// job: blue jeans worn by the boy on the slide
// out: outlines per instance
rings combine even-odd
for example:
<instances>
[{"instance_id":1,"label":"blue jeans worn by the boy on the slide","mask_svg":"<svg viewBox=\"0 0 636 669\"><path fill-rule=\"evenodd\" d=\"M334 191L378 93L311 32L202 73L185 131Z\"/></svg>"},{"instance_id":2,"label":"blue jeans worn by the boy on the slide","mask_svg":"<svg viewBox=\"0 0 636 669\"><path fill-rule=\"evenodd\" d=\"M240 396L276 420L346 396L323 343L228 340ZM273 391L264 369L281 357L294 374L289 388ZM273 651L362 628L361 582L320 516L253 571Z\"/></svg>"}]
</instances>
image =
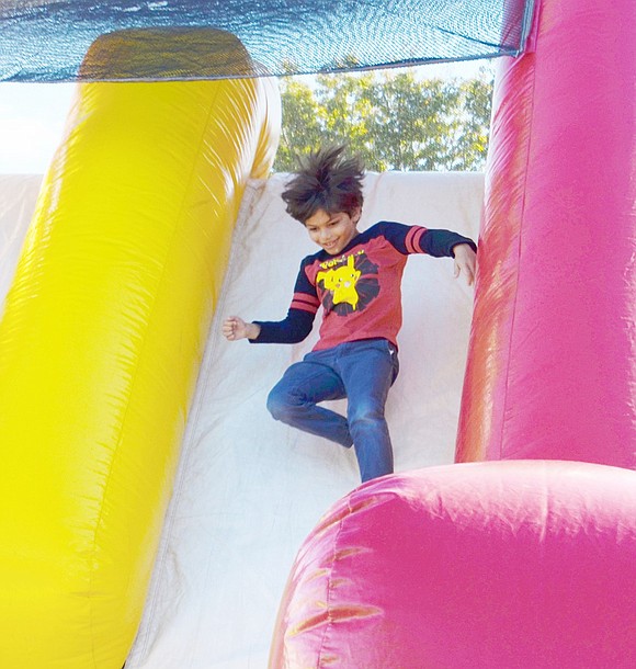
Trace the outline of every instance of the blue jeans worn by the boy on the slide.
<instances>
[{"instance_id":1,"label":"blue jeans worn by the boy on the slide","mask_svg":"<svg viewBox=\"0 0 636 669\"><path fill-rule=\"evenodd\" d=\"M288 426L355 447L363 481L393 472L393 447L384 418L388 390L399 371L386 339L341 343L311 351L291 365L268 397L268 409ZM348 398L347 418L317 406Z\"/></svg>"}]
</instances>

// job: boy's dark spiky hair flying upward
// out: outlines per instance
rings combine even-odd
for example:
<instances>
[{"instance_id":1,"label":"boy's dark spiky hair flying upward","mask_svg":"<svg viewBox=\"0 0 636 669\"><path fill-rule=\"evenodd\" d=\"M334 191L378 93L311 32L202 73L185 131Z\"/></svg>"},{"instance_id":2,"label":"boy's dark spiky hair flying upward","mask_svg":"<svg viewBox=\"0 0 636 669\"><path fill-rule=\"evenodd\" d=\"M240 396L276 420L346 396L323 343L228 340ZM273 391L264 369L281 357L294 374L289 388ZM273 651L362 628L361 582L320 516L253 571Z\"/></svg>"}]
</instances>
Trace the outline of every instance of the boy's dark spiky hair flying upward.
<instances>
[{"instance_id":1,"label":"boy's dark spiky hair flying upward","mask_svg":"<svg viewBox=\"0 0 636 669\"><path fill-rule=\"evenodd\" d=\"M345 156L347 146L328 146L297 157L299 167L282 193L287 214L305 224L318 209L352 214L362 207L364 166Z\"/></svg>"}]
</instances>

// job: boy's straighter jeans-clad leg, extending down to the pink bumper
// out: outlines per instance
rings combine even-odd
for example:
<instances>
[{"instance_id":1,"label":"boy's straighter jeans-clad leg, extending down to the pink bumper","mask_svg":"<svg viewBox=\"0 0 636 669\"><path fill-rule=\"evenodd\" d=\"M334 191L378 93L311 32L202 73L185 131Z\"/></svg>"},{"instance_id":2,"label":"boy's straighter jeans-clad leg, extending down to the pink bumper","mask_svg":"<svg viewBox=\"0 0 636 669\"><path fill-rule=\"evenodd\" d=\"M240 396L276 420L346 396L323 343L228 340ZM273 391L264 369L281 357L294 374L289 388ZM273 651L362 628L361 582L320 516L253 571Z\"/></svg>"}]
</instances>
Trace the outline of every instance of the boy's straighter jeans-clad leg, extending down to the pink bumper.
<instances>
[{"instance_id":1,"label":"boy's straighter jeans-clad leg, extending down to the pink bumper","mask_svg":"<svg viewBox=\"0 0 636 669\"><path fill-rule=\"evenodd\" d=\"M349 398L349 431L362 481L393 473L393 447L384 407L399 371L396 348L386 340L338 347L336 367Z\"/></svg>"}]
</instances>

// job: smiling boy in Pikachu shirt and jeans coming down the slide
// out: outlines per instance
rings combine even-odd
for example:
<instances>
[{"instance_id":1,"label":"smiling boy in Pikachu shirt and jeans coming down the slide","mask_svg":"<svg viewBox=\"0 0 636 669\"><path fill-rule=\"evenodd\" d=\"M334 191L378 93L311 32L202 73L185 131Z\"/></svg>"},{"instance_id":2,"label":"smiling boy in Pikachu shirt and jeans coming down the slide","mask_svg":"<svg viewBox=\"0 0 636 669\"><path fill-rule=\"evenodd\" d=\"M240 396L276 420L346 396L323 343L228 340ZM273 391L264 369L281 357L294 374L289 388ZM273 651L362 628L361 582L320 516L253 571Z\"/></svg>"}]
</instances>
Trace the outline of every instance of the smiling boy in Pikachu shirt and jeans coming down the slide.
<instances>
[{"instance_id":1,"label":"smiling boy in Pikachu shirt and jeans coming down the slide","mask_svg":"<svg viewBox=\"0 0 636 669\"><path fill-rule=\"evenodd\" d=\"M320 149L300 161L282 194L287 213L303 223L320 251L300 263L284 320L227 318L229 341L296 343L323 308L320 339L291 365L268 397L276 420L355 449L362 481L393 473L393 449L384 407L398 374L400 283L411 253L450 256L455 276L473 284L475 242L450 230L381 222L357 231L364 170L344 147ZM347 418L318 406L347 397Z\"/></svg>"}]
</instances>

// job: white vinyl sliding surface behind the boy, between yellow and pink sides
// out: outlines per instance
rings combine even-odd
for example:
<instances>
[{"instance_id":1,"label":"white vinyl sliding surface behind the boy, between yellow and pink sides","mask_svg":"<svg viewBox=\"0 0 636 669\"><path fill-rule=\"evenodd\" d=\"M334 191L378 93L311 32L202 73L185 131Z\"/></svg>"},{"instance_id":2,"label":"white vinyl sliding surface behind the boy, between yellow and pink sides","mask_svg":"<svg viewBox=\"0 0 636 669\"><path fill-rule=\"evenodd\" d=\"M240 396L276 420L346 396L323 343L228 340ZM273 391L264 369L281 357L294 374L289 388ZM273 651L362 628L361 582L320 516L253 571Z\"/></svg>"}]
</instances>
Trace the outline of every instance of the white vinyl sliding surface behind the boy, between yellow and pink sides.
<instances>
[{"instance_id":1,"label":"white vinyl sliding surface behind the boy, between yellow and pink sides","mask_svg":"<svg viewBox=\"0 0 636 669\"><path fill-rule=\"evenodd\" d=\"M29 193L20 193L20 181L31 185ZM13 226L22 220L25 228L29 203L35 203L38 179L20 181L0 180L7 228L10 215ZM277 317L287 308L311 242L284 212L284 181L285 174L274 174L246 186L126 669L266 667L298 546L360 481L351 452L289 430L266 412L270 387L313 341L229 344L218 331L228 313ZM362 226L391 216L475 236L482 194L481 174L372 173ZM11 259L9 247L3 258ZM447 259L411 259L404 294L404 362L387 407L398 470L453 462L473 304L472 288L454 280ZM154 449L146 457L146 467L155 464Z\"/></svg>"}]
</instances>

